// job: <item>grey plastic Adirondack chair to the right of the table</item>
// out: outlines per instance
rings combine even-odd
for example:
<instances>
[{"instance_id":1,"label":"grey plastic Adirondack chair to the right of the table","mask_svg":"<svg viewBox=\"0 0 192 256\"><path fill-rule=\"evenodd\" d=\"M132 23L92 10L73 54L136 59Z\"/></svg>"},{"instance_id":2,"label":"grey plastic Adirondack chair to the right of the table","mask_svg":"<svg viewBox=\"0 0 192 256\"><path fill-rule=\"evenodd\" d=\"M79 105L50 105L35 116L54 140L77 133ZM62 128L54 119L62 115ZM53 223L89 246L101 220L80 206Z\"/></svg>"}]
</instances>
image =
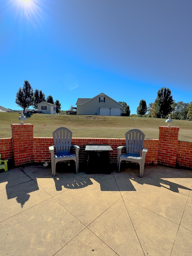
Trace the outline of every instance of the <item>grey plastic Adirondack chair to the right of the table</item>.
<instances>
[{"instance_id":1,"label":"grey plastic Adirondack chair to the right of the table","mask_svg":"<svg viewBox=\"0 0 192 256\"><path fill-rule=\"evenodd\" d=\"M121 161L137 162L140 165L140 177L143 178L145 156L148 151L148 149L143 148L144 139L145 139L145 134L138 129L132 129L126 132L125 134L126 145L119 146L117 148L118 173L120 171ZM125 147L126 147L126 154L121 155L121 150ZM142 152L142 155L141 155L141 152Z\"/></svg>"}]
</instances>

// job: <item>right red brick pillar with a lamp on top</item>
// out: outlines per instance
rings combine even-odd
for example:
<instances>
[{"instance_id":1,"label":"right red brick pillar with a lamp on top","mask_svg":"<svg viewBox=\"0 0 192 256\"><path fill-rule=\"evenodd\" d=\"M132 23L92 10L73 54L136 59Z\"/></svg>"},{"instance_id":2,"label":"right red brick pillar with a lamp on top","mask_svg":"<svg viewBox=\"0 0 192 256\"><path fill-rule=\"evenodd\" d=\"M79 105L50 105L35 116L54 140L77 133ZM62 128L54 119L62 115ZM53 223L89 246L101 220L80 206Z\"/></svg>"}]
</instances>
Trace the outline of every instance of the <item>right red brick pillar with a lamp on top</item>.
<instances>
[{"instance_id":1,"label":"right red brick pillar with a lamp on top","mask_svg":"<svg viewBox=\"0 0 192 256\"><path fill-rule=\"evenodd\" d=\"M179 127L159 127L158 164L176 167Z\"/></svg>"}]
</instances>

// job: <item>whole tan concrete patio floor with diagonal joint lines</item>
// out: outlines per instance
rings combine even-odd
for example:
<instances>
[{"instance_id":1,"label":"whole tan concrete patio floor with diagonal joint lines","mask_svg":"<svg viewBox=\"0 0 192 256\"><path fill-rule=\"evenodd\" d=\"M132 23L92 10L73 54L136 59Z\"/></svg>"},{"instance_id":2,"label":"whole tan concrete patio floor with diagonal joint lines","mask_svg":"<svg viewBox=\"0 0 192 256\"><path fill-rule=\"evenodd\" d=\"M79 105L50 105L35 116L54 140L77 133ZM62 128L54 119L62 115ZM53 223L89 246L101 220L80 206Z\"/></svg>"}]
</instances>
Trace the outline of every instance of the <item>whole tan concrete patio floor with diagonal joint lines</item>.
<instances>
[{"instance_id":1,"label":"whole tan concrete patio floor with diagonal joint lines","mask_svg":"<svg viewBox=\"0 0 192 256\"><path fill-rule=\"evenodd\" d=\"M0 255L192 255L192 171L0 173Z\"/></svg>"}]
</instances>

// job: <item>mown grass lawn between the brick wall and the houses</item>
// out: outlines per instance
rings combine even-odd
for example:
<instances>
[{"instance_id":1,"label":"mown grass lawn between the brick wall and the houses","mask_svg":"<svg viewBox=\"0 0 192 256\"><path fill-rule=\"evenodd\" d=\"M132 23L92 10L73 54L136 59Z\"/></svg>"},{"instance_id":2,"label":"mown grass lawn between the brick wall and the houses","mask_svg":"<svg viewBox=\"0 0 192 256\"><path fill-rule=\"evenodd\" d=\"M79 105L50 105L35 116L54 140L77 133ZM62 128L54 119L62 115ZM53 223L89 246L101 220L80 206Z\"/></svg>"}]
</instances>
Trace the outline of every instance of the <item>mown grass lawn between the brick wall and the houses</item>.
<instances>
[{"instance_id":1,"label":"mown grass lawn between the brick wall and the houses","mask_svg":"<svg viewBox=\"0 0 192 256\"><path fill-rule=\"evenodd\" d=\"M20 123L19 113L0 112L0 138L11 137L11 123ZM67 127L73 137L125 138L133 128L140 129L146 138L158 139L159 126L166 125L166 119L127 116L72 116L31 114L24 123L34 125L34 137L52 137L58 127ZM172 126L179 126L179 140L192 141L192 121L173 120Z\"/></svg>"}]
</instances>

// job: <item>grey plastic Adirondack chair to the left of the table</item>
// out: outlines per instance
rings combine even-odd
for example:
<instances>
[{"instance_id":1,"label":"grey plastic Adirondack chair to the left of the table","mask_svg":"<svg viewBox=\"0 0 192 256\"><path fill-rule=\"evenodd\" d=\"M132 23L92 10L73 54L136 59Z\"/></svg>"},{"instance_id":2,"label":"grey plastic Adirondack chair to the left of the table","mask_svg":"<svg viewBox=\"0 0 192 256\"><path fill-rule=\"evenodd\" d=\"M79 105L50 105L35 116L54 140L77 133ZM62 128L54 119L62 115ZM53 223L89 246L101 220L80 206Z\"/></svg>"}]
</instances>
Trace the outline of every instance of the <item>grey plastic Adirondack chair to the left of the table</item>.
<instances>
[{"instance_id":1,"label":"grey plastic Adirondack chair to the left of the table","mask_svg":"<svg viewBox=\"0 0 192 256\"><path fill-rule=\"evenodd\" d=\"M71 145L72 131L65 127L60 127L53 132L54 146L49 147L51 153L52 176L55 176L56 163L59 161L74 160L76 173L79 167L79 146ZM75 148L75 155L70 153L70 148ZM54 149L56 155L54 155Z\"/></svg>"}]
</instances>

